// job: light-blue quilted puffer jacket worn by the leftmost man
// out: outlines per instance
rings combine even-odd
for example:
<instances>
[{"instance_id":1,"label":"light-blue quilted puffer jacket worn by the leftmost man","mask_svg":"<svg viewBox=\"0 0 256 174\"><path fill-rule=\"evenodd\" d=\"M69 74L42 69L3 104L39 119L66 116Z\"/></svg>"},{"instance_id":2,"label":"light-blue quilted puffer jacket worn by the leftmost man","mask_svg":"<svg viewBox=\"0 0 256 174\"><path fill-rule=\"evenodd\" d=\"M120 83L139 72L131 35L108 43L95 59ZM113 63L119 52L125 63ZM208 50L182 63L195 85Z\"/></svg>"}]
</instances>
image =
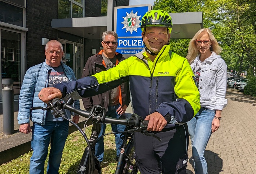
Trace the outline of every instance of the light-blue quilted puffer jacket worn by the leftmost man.
<instances>
[{"instance_id":1,"label":"light-blue quilted puffer jacket worn by the leftmost man","mask_svg":"<svg viewBox=\"0 0 256 174\"><path fill-rule=\"evenodd\" d=\"M61 62L63 70L67 78L72 81L76 80L73 70ZM21 86L21 94L19 95L19 112L18 112L18 123L29 123L36 122L39 124L45 124L46 110L32 110L32 107L46 107L46 104L42 102L37 96L41 89L48 86L48 71L52 69L46 62L30 67L25 76ZM80 108L79 100L75 101L75 107ZM70 111L65 110L66 115L70 119Z\"/></svg>"}]
</instances>

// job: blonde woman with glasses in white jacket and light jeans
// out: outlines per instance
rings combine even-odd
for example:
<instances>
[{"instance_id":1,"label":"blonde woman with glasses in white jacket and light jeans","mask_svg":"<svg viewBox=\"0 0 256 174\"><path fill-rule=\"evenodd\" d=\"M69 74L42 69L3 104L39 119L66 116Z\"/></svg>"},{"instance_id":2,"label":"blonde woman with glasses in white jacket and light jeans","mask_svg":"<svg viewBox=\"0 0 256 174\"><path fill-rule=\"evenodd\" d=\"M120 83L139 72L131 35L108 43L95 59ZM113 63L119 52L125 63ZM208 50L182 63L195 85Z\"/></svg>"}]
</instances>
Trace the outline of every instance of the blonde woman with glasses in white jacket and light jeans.
<instances>
[{"instance_id":1,"label":"blonde woman with glasses in white jacket and light jeans","mask_svg":"<svg viewBox=\"0 0 256 174\"><path fill-rule=\"evenodd\" d=\"M203 28L189 42L186 56L200 93L201 109L187 122L196 174L207 174L204 151L211 134L220 127L221 111L227 104L227 66L220 52L211 30Z\"/></svg>"}]
</instances>

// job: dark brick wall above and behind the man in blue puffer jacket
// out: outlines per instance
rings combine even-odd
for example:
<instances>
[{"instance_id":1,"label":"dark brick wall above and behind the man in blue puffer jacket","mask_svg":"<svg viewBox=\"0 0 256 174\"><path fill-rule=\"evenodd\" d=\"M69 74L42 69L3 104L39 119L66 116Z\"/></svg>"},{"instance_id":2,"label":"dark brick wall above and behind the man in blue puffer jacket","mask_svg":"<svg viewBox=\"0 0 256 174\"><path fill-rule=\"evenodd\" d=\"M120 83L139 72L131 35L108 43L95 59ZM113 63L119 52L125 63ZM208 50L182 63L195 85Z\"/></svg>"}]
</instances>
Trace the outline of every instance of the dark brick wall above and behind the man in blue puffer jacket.
<instances>
[{"instance_id":1,"label":"dark brick wall above and behind the man in blue puffer jacket","mask_svg":"<svg viewBox=\"0 0 256 174\"><path fill-rule=\"evenodd\" d=\"M27 69L45 60L42 38L58 38L57 30L51 27L51 19L58 18L58 0L27 0Z\"/></svg>"}]
</instances>

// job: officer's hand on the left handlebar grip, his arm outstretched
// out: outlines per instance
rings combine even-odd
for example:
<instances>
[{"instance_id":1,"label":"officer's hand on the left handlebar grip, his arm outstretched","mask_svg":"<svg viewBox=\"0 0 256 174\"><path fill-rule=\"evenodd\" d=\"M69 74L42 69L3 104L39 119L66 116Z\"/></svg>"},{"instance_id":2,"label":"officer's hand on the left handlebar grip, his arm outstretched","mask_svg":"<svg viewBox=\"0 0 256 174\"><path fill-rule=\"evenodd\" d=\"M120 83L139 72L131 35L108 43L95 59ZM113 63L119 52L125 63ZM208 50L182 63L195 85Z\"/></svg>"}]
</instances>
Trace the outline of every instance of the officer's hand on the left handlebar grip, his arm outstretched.
<instances>
[{"instance_id":1,"label":"officer's hand on the left handlebar grip, his arm outstretched","mask_svg":"<svg viewBox=\"0 0 256 174\"><path fill-rule=\"evenodd\" d=\"M43 88L39 92L38 97L44 103L48 103L50 100L52 100L54 98L61 98L62 97L62 93L57 88L49 87L49 88Z\"/></svg>"}]
</instances>

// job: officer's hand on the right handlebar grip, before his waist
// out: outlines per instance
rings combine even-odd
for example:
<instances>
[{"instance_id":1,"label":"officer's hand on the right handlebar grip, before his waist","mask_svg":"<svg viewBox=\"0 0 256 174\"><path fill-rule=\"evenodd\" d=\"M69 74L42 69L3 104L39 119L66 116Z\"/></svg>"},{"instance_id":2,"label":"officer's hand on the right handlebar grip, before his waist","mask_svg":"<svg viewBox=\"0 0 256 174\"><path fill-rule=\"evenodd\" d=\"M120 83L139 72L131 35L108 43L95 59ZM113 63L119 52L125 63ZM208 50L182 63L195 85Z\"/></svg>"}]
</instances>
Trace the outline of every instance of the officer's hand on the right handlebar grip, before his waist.
<instances>
[{"instance_id":1,"label":"officer's hand on the right handlebar grip, before his waist","mask_svg":"<svg viewBox=\"0 0 256 174\"><path fill-rule=\"evenodd\" d=\"M167 121L159 112L148 115L145 120L149 120L147 131L162 131Z\"/></svg>"}]
</instances>

